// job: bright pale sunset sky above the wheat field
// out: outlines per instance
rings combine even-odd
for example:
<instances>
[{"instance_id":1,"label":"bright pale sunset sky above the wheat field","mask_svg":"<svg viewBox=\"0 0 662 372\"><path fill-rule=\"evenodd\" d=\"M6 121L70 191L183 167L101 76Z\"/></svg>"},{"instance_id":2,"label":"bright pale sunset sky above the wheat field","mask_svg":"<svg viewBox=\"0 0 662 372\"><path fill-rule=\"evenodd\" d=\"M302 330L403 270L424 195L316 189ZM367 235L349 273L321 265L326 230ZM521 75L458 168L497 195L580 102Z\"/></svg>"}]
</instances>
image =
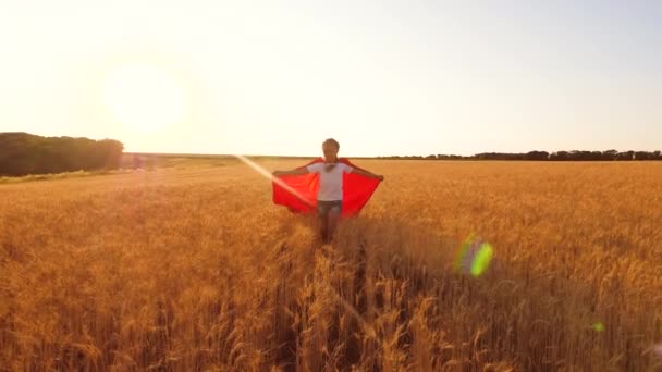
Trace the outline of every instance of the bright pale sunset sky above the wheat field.
<instances>
[{"instance_id":1,"label":"bright pale sunset sky above the wheat field","mask_svg":"<svg viewBox=\"0 0 662 372\"><path fill-rule=\"evenodd\" d=\"M126 151L662 149L660 1L0 0L0 132Z\"/></svg>"}]
</instances>

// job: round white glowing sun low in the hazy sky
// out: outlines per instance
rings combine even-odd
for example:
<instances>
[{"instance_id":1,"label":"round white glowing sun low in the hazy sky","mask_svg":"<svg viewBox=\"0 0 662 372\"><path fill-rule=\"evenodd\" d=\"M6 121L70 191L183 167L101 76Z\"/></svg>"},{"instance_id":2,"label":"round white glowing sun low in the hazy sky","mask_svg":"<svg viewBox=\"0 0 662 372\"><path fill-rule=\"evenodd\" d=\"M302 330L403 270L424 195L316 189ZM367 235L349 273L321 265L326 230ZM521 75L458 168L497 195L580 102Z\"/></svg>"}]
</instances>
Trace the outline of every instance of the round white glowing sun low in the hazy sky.
<instances>
[{"instance_id":1,"label":"round white glowing sun low in the hazy sky","mask_svg":"<svg viewBox=\"0 0 662 372\"><path fill-rule=\"evenodd\" d=\"M181 87L171 74L155 65L115 67L106 75L102 89L106 108L133 132L154 133L183 119Z\"/></svg>"}]
</instances>

